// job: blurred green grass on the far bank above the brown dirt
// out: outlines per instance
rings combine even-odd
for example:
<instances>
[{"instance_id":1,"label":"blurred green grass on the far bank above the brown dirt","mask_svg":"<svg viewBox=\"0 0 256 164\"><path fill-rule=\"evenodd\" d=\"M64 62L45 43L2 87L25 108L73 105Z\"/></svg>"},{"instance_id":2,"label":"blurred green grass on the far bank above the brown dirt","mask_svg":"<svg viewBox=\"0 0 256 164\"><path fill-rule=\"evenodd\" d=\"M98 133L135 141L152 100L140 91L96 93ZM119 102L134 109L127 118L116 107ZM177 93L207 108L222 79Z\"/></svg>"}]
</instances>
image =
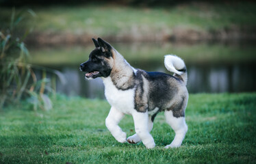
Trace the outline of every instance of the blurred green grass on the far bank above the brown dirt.
<instances>
[{"instance_id":1,"label":"blurred green grass on the far bank above the brown dirt","mask_svg":"<svg viewBox=\"0 0 256 164\"><path fill-rule=\"evenodd\" d=\"M120 5L32 7L37 14L35 31L92 36L172 33L173 28L209 31L256 26L256 3L186 3L173 7L131 8ZM16 9L21 10L20 8ZM0 8L2 25L10 8ZM33 21L27 20L23 25Z\"/></svg>"}]
</instances>

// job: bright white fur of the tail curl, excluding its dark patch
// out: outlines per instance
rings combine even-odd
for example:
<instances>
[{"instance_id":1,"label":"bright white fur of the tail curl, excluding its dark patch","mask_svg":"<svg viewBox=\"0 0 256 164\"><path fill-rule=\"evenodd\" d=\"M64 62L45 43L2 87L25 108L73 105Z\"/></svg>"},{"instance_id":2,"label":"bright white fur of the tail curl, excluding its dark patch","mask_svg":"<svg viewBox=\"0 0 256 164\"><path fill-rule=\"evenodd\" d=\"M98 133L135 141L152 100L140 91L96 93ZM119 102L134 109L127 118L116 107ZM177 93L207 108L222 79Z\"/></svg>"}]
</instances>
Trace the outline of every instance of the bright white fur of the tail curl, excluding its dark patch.
<instances>
[{"instance_id":1,"label":"bright white fur of the tail curl, excluding its dark patch","mask_svg":"<svg viewBox=\"0 0 256 164\"><path fill-rule=\"evenodd\" d=\"M185 67L184 61L177 57L176 55L165 55L164 56L164 66L170 72L181 75L183 72L178 71Z\"/></svg>"}]
</instances>

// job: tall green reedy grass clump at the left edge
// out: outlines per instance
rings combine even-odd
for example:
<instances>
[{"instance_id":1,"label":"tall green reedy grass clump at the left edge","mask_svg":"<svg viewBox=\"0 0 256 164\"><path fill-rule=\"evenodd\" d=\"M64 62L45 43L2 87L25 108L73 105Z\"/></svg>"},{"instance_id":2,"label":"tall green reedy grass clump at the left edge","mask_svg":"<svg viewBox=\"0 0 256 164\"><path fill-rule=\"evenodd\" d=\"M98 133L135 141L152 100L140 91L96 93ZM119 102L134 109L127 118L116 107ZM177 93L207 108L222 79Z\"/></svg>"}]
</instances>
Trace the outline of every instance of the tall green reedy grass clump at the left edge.
<instances>
[{"instance_id":1,"label":"tall green reedy grass clump at the left edge","mask_svg":"<svg viewBox=\"0 0 256 164\"><path fill-rule=\"evenodd\" d=\"M32 10L27 12L33 18L36 16ZM29 51L23 40L32 28L25 30L22 37L16 33L24 14L24 11L16 14L13 9L10 26L0 31L0 109L4 105L17 104L21 98L27 97L30 97L29 102L34 105L34 109L51 109L51 100L45 94L47 71L42 69L42 80L38 81L33 69L35 66L28 64Z\"/></svg>"}]
</instances>

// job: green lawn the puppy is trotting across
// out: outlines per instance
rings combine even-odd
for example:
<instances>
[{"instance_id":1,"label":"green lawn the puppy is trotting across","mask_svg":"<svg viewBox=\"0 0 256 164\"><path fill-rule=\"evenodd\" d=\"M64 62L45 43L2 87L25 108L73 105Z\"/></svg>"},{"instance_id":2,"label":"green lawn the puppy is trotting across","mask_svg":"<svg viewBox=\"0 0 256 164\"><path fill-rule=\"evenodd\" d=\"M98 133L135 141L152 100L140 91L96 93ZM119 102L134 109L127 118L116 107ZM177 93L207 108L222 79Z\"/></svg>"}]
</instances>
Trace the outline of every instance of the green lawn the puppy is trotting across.
<instances>
[{"instance_id":1,"label":"green lawn the puppy is trotting across","mask_svg":"<svg viewBox=\"0 0 256 164\"><path fill-rule=\"evenodd\" d=\"M105 100L58 95L51 111L26 102L0 111L0 163L256 163L256 94L191 94L181 148L163 113L155 119L156 147L118 143L105 127ZM133 135L133 120L120 126Z\"/></svg>"}]
</instances>

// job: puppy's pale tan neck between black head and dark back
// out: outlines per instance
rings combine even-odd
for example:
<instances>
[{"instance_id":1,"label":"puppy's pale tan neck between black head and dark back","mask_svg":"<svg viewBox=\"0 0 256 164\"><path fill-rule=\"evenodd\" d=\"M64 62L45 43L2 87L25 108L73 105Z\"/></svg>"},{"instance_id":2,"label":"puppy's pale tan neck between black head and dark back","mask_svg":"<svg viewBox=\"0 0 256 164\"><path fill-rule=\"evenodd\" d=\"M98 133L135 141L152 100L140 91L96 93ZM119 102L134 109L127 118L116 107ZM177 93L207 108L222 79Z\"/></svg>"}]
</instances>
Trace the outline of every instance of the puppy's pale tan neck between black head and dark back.
<instances>
[{"instance_id":1,"label":"puppy's pale tan neck between black head and dark back","mask_svg":"<svg viewBox=\"0 0 256 164\"><path fill-rule=\"evenodd\" d=\"M129 90L134 87L134 76L136 69L134 69L125 58L115 50L114 66L110 73L110 79L118 90Z\"/></svg>"}]
</instances>

